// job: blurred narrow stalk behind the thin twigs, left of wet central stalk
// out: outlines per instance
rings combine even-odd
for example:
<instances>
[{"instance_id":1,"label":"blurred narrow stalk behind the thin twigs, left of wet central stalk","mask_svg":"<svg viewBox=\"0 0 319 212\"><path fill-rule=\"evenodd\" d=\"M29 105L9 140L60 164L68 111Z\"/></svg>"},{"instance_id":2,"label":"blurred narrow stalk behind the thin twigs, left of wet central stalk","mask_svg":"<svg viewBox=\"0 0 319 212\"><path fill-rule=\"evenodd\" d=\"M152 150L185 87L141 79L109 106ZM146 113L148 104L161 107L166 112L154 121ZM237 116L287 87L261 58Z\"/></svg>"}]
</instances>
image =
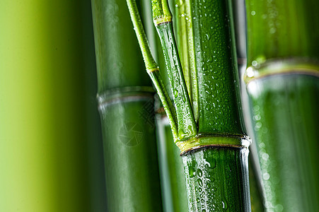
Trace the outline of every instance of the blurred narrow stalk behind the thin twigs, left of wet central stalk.
<instances>
[{"instance_id":1,"label":"blurred narrow stalk behind the thin twigs, left of wet central stalk","mask_svg":"<svg viewBox=\"0 0 319 212\"><path fill-rule=\"evenodd\" d=\"M161 50L161 42L156 36L151 14L151 1L144 1L144 18L146 35L149 38L151 50L161 66L161 76L170 93L170 82L166 71L165 59ZM173 99L173 97L172 97ZM161 172L161 187L163 211L187 211L187 192L185 187L184 166L180 158L180 150L174 143L168 117L163 110L161 100L156 98L156 132L158 143L158 159Z\"/></svg>"}]
</instances>

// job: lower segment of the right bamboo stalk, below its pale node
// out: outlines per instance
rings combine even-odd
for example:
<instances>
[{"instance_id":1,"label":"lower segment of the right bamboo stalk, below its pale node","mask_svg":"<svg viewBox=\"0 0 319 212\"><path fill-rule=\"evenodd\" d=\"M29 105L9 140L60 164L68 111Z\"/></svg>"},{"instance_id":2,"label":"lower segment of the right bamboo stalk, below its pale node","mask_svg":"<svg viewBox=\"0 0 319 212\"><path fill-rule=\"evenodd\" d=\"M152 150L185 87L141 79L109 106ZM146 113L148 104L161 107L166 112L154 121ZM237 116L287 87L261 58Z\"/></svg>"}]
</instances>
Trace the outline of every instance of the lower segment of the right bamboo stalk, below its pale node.
<instances>
[{"instance_id":1,"label":"lower segment of the right bamboo stalk, below its pale node","mask_svg":"<svg viewBox=\"0 0 319 212\"><path fill-rule=\"evenodd\" d=\"M319 78L248 84L267 211L318 211Z\"/></svg>"}]
</instances>

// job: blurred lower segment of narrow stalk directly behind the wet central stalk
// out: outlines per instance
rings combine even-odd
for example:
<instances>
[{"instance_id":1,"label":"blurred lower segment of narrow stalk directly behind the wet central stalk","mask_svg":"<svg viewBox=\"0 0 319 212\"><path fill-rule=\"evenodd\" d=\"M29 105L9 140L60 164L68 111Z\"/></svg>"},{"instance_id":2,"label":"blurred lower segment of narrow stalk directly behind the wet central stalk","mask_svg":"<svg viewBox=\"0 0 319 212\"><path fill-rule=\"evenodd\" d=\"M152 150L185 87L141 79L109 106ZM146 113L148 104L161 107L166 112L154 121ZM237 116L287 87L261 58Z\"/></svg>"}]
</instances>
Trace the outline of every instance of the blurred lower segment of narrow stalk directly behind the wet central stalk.
<instances>
[{"instance_id":1,"label":"blurred lower segment of narrow stalk directly behind the wet central stalk","mask_svg":"<svg viewBox=\"0 0 319 212\"><path fill-rule=\"evenodd\" d=\"M185 212L188 208L184 165L180 149L173 141L167 117L157 115L156 130L164 211Z\"/></svg>"}]
</instances>

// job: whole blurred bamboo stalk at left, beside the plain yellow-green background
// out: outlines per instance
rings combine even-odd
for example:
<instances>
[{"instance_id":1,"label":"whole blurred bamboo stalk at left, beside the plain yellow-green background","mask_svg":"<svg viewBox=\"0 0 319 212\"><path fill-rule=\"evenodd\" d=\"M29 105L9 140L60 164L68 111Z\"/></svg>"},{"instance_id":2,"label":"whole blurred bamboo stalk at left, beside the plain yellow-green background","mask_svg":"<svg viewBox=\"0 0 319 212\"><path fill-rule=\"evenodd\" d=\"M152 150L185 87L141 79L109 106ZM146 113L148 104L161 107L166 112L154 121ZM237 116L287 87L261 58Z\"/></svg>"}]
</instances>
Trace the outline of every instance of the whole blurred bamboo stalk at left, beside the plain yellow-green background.
<instances>
[{"instance_id":1,"label":"whole blurred bamboo stalk at left, beside the plain yellow-green background","mask_svg":"<svg viewBox=\"0 0 319 212\"><path fill-rule=\"evenodd\" d=\"M153 88L125 0L93 0L109 211L161 211Z\"/></svg>"}]
</instances>

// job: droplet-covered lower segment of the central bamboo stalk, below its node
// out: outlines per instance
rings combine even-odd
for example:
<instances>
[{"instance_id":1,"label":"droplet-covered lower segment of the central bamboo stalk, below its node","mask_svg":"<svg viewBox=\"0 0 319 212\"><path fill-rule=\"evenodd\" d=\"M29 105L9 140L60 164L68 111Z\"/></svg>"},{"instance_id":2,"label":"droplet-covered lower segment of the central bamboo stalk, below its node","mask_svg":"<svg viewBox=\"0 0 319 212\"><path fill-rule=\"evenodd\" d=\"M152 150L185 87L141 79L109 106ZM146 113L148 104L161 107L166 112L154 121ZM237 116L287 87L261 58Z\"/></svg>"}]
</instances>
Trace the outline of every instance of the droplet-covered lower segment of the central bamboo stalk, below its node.
<instances>
[{"instance_id":1,"label":"droplet-covered lower segment of the central bamboo stalk, below its node","mask_svg":"<svg viewBox=\"0 0 319 212\"><path fill-rule=\"evenodd\" d=\"M182 160L189 211L250 211L247 148L202 148Z\"/></svg>"}]
</instances>

